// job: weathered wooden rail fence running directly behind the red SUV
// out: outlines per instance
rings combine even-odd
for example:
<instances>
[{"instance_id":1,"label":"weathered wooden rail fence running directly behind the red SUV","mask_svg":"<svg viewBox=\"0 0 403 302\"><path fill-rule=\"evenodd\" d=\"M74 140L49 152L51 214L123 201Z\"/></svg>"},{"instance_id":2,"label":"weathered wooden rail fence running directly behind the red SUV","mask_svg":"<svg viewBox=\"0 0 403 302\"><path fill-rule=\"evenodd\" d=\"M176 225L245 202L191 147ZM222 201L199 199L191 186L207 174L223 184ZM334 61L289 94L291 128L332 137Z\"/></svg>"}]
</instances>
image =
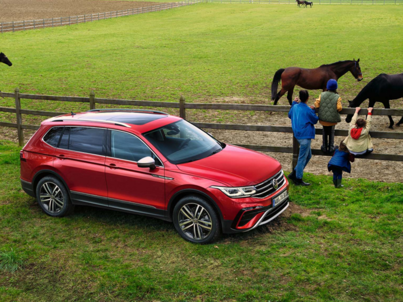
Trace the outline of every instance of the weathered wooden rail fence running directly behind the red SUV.
<instances>
[{"instance_id":1,"label":"weathered wooden rail fence running directly behind the red SUV","mask_svg":"<svg viewBox=\"0 0 403 302\"><path fill-rule=\"evenodd\" d=\"M15 99L15 108L0 107L0 112L15 113L17 117L16 123L0 122L0 126L17 128L18 141L22 146L24 144L23 130L37 130L38 125L26 125L22 123L22 114L39 115L39 116L58 116L64 114L62 112L38 111L28 110L21 108L21 99L30 100L46 100L46 101L61 101L61 102L82 102L89 103L89 109L95 109L95 104L111 104L111 105L126 105L126 106L142 106L154 108L177 108L179 109L179 116L186 119L186 110L190 109L204 109L204 110L247 110L247 111L265 111L265 112L288 112L290 106L273 106L273 105L247 105L247 104L200 104L200 103L186 103L183 97L180 97L179 102L154 102L154 101L135 101L135 100L119 100L119 99L103 99L96 98L93 91L90 92L89 97L65 97L65 96L45 96L45 95L31 95L21 94L17 88L14 93L0 92L0 97ZM354 108L344 108L341 114L354 114ZM366 109L362 109L360 114L367 114ZM403 109L374 109L373 115L392 115L403 116ZM241 124L218 124L218 123L202 123L193 122L194 125L205 129L225 129L225 130L242 130L242 131L264 131L264 132L283 132L292 133L290 126L270 126L270 125L241 125ZM316 134L321 135L322 129L317 128ZM370 131L373 138L389 138L389 139L403 139L403 132L382 132ZM348 130L335 130L336 136L347 136ZM239 146L249 148L260 152L277 152L277 153L291 153L293 155L292 165L295 167L298 160L299 144L293 137L292 146L264 146L264 145L245 145ZM320 149L312 149L313 155L329 156L323 153ZM361 158L370 160L381 161L396 161L403 162L403 155L392 154L377 154L371 153Z\"/></svg>"}]
</instances>

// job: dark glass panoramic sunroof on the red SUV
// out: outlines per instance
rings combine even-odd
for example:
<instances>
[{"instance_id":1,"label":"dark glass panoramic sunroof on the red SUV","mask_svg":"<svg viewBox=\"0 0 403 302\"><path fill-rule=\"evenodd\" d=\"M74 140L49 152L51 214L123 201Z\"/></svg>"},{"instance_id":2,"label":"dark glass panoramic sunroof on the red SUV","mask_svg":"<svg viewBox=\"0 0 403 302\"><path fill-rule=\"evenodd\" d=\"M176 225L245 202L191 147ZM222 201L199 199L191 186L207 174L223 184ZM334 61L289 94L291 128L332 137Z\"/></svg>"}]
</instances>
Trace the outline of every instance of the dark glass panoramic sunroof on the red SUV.
<instances>
[{"instance_id":1,"label":"dark glass panoramic sunroof on the red SUV","mask_svg":"<svg viewBox=\"0 0 403 302\"><path fill-rule=\"evenodd\" d=\"M83 118L113 121L133 125L144 125L164 117L166 117L166 115L136 113L136 112L108 112L108 113L102 112L102 113L89 113L83 116Z\"/></svg>"}]
</instances>

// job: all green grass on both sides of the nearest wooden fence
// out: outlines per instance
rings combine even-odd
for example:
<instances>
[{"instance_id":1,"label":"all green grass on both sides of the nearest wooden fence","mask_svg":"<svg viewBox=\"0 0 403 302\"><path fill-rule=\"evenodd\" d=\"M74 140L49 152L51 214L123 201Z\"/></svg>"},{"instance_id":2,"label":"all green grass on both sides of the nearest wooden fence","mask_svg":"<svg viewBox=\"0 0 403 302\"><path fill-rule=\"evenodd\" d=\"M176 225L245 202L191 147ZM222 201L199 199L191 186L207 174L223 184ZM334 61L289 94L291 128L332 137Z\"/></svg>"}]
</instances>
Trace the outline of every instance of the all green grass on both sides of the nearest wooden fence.
<instances>
[{"instance_id":1,"label":"all green grass on both sides of the nearest wooden fence","mask_svg":"<svg viewBox=\"0 0 403 302\"><path fill-rule=\"evenodd\" d=\"M402 72L402 13L401 6L198 4L7 33L0 51L14 65L0 65L0 90L267 103L281 67L360 58L364 81L351 74L340 81L346 102L377 74ZM88 104L23 100L23 108ZM402 184L350 179L337 190L329 177L308 175L311 187L291 187L291 216L198 246L172 224L137 215L77 207L68 217L46 216L21 190L19 150L0 141L0 267L22 266L0 270L1 302L403 300Z\"/></svg>"}]
</instances>

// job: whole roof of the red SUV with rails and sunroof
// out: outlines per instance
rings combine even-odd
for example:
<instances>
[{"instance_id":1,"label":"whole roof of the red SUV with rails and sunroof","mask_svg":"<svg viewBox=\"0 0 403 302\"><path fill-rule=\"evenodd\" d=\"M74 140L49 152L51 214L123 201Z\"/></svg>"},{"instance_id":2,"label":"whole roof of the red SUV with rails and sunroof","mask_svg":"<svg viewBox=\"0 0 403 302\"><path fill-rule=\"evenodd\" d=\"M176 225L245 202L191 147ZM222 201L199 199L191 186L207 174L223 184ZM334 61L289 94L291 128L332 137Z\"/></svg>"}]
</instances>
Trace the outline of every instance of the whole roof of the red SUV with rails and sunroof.
<instances>
[{"instance_id":1,"label":"whole roof of the red SUV with rails and sunroof","mask_svg":"<svg viewBox=\"0 0 403 302\"><path fill-rule=\"evenodd\" d=\"M64 114L45 120L42 124L95 126L144 133L181 120L159 111L100 110Z\"/></svg>"}]
</instances>

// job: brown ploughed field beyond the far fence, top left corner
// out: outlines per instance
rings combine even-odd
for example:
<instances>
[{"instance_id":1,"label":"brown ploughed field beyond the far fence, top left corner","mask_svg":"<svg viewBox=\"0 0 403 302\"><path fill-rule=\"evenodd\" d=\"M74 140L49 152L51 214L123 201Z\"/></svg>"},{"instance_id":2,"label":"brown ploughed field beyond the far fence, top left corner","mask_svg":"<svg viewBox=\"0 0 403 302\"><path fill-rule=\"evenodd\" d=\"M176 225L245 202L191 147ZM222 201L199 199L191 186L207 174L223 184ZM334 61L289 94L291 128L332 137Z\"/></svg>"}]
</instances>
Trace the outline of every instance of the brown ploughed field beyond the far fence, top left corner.
<instances>
[{"instance_id":1,"label":"brown ploughed field beyond the far fence, top left corner","mask_svg":"<svg viewBox=\"0 0 403 302\"><path fill-rule=\"evenodd\" d=\"M103 0L0 0L0 22L105 13L160 4Z\"/></svg>"}]
</instances>

